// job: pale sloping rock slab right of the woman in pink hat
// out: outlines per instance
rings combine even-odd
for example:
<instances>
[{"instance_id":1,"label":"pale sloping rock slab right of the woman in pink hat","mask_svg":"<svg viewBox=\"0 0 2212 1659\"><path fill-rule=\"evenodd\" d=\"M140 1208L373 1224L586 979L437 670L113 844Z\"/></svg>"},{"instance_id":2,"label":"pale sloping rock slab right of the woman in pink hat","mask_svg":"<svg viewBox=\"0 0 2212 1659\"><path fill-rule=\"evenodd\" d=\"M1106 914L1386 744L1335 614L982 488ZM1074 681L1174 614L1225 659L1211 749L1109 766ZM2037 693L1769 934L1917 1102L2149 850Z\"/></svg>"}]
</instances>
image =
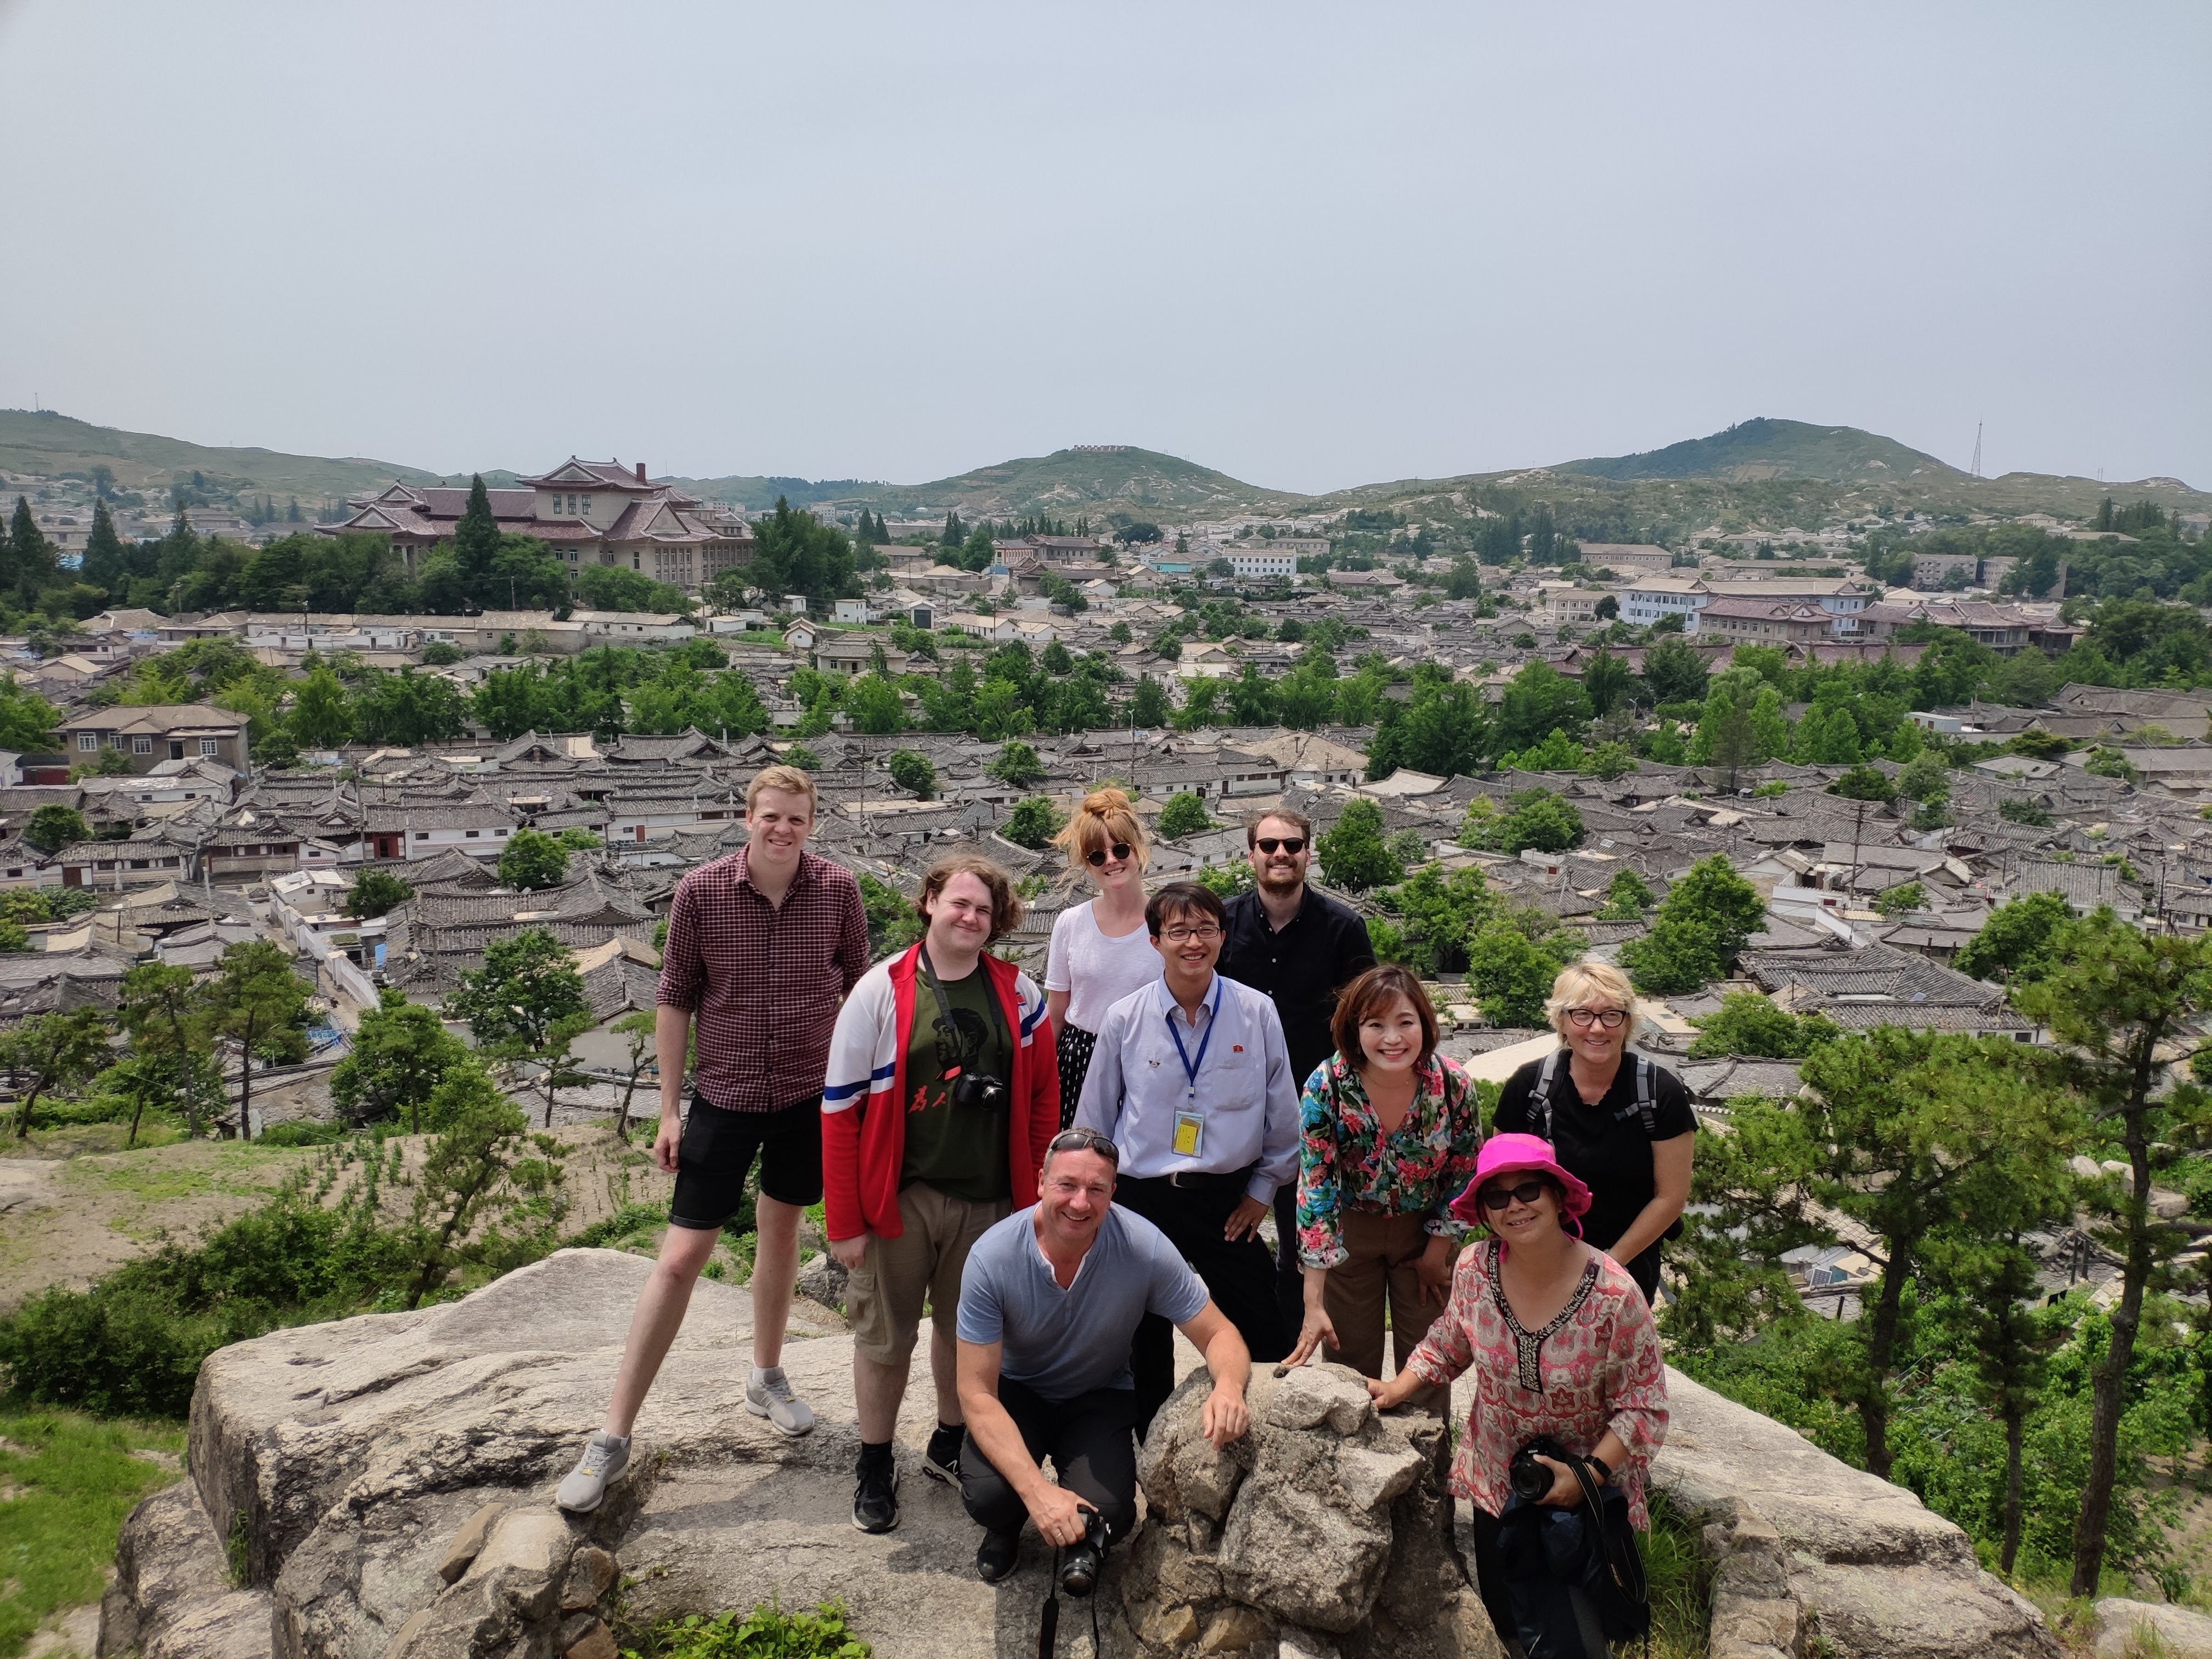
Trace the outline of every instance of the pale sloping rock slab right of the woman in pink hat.
<instances>
[{"instance_id":1,"label":"pale sloping rock slab right of the woman in pink hat","mask_svg":"<svg viewBox=\"0 0 2212 1659\"><path fill-rule=\"evenodd\" d=\"M2059 1659L2042 1613L1902 1486L1668 1371L1652 1484L1703 1524L1712 1659Z\"/></svg>"}]
</instances>

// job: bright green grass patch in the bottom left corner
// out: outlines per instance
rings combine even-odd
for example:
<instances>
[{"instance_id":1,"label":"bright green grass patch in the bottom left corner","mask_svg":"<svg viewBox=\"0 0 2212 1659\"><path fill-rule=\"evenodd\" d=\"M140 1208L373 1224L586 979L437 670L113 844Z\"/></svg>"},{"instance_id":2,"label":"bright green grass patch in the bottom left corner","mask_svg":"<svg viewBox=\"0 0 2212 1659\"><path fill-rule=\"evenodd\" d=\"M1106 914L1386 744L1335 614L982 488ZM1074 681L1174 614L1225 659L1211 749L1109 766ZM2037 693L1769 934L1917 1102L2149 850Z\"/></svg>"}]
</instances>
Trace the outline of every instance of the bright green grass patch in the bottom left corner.
<instances>
[{"instance_id":1,"label":"bright green grass patch in the bottom left corner","mask_svg":"<svg viewBox=\"0 0 2212 1659\"><path fill-rule=\"evenodd\" d=\"M0 1402L0 1659L62 1608L97 1601L124 1515L177 1471L133 1451L184 1451L181 1422L100 1420Z\"/></svg>"}]
</instances>

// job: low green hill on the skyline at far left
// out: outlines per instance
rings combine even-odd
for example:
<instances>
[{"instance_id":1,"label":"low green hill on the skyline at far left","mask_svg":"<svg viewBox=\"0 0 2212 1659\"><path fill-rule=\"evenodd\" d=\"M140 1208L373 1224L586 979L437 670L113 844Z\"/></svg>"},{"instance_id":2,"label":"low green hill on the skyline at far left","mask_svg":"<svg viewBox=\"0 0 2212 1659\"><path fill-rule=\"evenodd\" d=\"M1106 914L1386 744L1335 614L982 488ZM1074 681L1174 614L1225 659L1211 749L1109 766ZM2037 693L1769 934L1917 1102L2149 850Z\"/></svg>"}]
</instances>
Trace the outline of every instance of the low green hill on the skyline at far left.
<instances>
[{"instance_id":1,"label":"low green hill on the skyline at far left","mask_svg":"<svg viewBox=\"0 0 2212 1659\"><path fill-rule=\"evenodd\" d=\"M405 484L436 484L438 473L392 460L347 456L283 456L274 449L212 449L181 438L95 427L51 409L0 409L0 471L86 473L106 465L124 489L164 491L179 473L199 473L210 495L274 495L279 504L299 495L301 504L336 502L383 489L394 478Z\"/></svg>"}]
</instances>

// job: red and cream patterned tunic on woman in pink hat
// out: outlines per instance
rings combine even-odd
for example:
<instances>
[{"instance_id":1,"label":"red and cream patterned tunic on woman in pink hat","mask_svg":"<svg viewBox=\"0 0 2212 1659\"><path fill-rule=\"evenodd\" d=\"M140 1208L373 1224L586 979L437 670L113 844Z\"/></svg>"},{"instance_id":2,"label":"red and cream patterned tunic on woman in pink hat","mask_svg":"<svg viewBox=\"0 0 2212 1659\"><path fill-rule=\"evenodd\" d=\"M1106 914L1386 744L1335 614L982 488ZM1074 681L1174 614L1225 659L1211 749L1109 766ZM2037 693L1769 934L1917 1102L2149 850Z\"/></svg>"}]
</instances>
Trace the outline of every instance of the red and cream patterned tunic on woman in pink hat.
<instances>
[{"instance_id":1,"label":"red and cream patterned tunic on woman in pink hat","mask_svg":"<svg viewBox=\"0 0 2212 1659\"><path fill-rule=\"evenodd\" d=\"M1451 1458L1451 1489L1491 1515L1513 1486L1506 1464L1535 1436L1548 1433L1573 1453L1590 1455L1613 1429L1628 1447L1628 1467L1613 1482L1628 1493L1628 1517L1650 1526L1644 1475L1666 1442L1666 1365L1659 1329L1637 1281L1601 1250L1559 1321L1524 1332L1498 1290L1498 1239L1460 1252L1451 1301L1438 1314L1407 1369L1427 1383L1475 1374L1467 1433ZM1535 1378L1531 1378L1535 1369ZM1542 1387L1531 1389L1528 1383Z\"/></svg>"}]
</instances>

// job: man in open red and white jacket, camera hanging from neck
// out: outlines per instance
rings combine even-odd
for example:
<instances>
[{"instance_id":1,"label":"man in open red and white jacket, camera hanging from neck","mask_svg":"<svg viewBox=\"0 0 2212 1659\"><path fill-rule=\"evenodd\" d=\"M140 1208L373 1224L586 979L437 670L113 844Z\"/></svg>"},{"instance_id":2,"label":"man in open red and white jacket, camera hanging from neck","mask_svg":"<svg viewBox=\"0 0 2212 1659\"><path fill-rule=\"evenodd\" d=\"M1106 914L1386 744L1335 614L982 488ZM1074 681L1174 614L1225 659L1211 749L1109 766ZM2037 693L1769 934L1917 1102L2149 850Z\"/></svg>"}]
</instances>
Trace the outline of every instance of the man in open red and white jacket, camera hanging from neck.
<instances>
[{"instance_id":1,"label":"man in open red and white jacket, camera hanging from neck","mask_svg":"<svg viewBox=\"0 0 2212 1659\"><path fill-rule=\"evenodd\" d=\"M1044 993L989 945L1022 900L989 858L942 858L922 878L922 942L872 967L845 998L823 1082L823 1212L849 1272L860 1467L852 1524L898 1526L891 1429L931 1307L938 1429L922 1469L960 1484L953 1318L969 1245L1037 1201L1060 1128L1060 1068Z\"/></svg>"}]
</instances>

